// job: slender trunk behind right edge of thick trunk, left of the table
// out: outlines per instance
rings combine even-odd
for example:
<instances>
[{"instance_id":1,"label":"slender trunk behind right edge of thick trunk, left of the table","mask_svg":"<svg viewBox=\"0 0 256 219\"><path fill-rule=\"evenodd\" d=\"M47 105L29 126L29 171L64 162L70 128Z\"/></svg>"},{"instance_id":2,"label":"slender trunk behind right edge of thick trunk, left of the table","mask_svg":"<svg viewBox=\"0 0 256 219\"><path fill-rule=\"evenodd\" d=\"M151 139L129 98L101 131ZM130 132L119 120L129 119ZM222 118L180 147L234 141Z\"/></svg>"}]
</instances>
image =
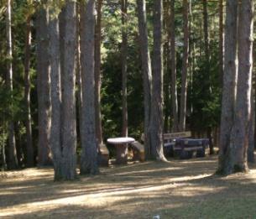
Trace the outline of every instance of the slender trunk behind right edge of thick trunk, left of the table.
<instances>
[{"instance_id":1,"label":"slender trunk behind right edge of thick trunk, left of the table","mask_svg":"<svg viewBox=\"0 0 256 219\"><path fill-rule=\"evenodd\" d=\"M102 113L101 113L101 44L102 44L102 0L97 1L97 24L95 29L95 112L97 142L102 139Z\"/></svg>"}]
</instances>

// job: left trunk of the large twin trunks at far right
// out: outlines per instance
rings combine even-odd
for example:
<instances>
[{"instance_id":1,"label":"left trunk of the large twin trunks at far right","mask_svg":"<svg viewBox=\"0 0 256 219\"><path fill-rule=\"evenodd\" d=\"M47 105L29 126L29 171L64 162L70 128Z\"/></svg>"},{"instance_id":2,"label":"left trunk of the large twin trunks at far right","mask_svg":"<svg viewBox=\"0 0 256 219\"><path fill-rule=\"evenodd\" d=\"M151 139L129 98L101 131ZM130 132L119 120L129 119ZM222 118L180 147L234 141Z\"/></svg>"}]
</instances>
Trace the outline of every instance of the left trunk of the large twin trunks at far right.
<instances>
[{"instance_id":1,"label":"left trunk of the large twin trunks at far right","mask_svg":"<svg viewBox=\"0 0 256 219\"><path fill-rule=\"evenodd\" d=\"M238 77L237 64L237 32L238 32L238 1L228 0L226 6L225 29L225 62L222 86L222 117L220 132L219 164L217 172L225 174L226 166L231 162L230 134L234 117L236 87Z\"/></svg>"}]
</instances>

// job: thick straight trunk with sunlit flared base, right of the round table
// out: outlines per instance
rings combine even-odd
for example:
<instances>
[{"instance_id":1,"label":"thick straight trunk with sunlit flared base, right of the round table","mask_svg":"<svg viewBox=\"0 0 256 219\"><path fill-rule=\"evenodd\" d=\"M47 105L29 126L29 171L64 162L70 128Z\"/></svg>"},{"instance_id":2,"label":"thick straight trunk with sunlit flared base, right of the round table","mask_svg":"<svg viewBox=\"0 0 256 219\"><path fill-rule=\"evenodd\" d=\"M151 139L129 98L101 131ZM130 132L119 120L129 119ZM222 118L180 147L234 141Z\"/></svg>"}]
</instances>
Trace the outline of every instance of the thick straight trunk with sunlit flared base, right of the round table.
<instances>
[{"instance_id":1,"label":"thick straight trunk with sunlit flared base, right of the round table","mask_svg":"<svg viewBox=\"0 0 256 219\"><path fill-rule=\"evenodd\" d=\"M163 60L162 60L162 9L163 3L154 0L154 49L151 129L151 157L165 160L163 151Z\"/></svg>"}]
</instances>

